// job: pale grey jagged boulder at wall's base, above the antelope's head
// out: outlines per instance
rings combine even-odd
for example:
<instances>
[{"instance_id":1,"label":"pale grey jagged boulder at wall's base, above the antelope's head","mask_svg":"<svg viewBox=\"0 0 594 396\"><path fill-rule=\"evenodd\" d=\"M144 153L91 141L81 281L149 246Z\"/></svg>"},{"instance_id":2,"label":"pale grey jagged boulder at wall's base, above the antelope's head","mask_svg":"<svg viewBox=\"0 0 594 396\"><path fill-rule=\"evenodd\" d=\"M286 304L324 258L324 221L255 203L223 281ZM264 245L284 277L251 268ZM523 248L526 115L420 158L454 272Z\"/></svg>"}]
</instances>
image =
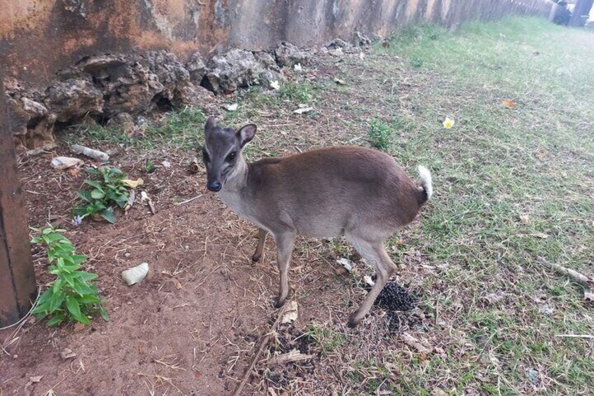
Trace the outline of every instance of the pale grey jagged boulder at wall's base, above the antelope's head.
<instances>
[{"instance_id":1,"label":"pale grey jagged boulder at wall's base, above the antelope's head","mask_svg":"<svg viewBox=\"0 0 594 396\"><path fill-rule=\"evenodd\" d=\"M232 93L254 84L261 69L252 53L234 48L209 60L202 86L214 93Z\"/></svg>"}]
</instances>

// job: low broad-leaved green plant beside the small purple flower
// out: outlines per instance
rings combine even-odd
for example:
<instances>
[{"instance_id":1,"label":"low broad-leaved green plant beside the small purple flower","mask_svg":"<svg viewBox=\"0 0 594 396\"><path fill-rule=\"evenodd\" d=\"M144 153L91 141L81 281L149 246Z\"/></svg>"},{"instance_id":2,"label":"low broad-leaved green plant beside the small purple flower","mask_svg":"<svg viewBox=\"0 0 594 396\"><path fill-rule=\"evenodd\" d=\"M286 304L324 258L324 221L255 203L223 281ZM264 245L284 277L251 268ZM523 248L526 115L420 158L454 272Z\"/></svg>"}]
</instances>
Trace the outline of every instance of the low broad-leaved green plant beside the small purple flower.
<instances>
[{"instance_id":1,"label":"low broad-leaved green plant beside the small purple flower","mask_svg":"<svg viewBox=\"0 0 594 396\"><path fill-rule=\"evenodd\" d=\"M85 203L74 208L73 217L80 221L85 217L98 214L110 223L115 222L116 214L113 212L113 205L124 207L128 200L128 191L122 182L126 177L125 173L117 168L107 167L90 168L86 171L99 178L85 179L84 183L92 189L77 191L78 196Z\"/></svg>"}]
</instances>

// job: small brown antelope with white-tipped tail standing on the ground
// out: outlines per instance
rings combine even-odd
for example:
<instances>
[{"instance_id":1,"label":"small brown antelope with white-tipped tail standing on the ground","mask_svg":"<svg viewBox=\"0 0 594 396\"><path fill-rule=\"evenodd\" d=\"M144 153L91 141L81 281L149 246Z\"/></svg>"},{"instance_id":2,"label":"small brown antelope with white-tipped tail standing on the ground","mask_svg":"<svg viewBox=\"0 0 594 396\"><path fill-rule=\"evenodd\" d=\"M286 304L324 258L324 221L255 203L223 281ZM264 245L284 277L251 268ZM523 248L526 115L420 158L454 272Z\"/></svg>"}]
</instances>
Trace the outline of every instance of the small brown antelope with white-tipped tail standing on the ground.
<instances>
[{"instance_id":1,"label":"small brown antelope with white-tipped tail standing on the ground","mask_svg":"<svg viewBox=\"0 0 594 396\"><path fill-rule=\"evenodd\" d=\"M377 274L375 285L349 318L350 327L358 325L396 271L385 251L385 241L413 221L431 198L429 170L419 166L422 185L417 186L392 157L358 146L329 147L247 163L242 149L254 135L254 124L236 132L208 118L202 150L207 188L240 217L258 226L252 260L262 256L266 235L274 235L280 272L276 308L284 304L289 293L287 272L296 235L345 235Z\"/></svg>"}]
</instances>

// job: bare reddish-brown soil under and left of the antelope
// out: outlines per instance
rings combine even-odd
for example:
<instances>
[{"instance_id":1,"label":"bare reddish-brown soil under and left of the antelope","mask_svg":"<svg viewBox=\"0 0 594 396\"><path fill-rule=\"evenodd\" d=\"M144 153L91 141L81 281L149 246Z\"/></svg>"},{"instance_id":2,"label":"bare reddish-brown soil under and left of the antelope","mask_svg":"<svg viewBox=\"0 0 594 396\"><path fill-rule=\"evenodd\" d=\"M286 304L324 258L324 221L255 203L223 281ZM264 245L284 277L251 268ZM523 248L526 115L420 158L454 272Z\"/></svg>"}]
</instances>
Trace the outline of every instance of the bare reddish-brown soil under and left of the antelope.
<instances>
[{"instance_id":1,"label":"bare reddish-brown soil under and left of the antelope","mask_svg":"<svg viewBox=\"0 0 594 396\"><path fill-rule=\"evenodd\" d=\"M328 62L317 72L326 77L336 71L336 65ZM333 96L326 100L329 107L342 101ZM289 144L296 150L298 145L324 146L337 138L351 138L340 127L340 113L329 113L328 125L337 125L334 130L315 132L303 126L307 118L289 120L291 113L276 115L274 124L264 126L275 139L283 139L285 135L277 132L283 132L283 125L290 121L291 129L300 132ZM357 136L357 131L349 133ZM262 136L265 152L275 142ZM29 224L44 226L50 221L69 230L67 237L89 257L85 269L99 275L110 321L96 318L92 327L79 331L71 324L56 329L29 321L15 335L13 329L0 332L5 346L0 353L0 395L51 395L50 390L60 396L230 395L251 363L258 341L278 315L272 308L278 282L272 238L268 238L263 259L252 263L254 226L238 219L205 189L202 170L197 175L188 172L188 158L195 153L160 149L141 155L133 149L111 149L119 151L111 165L130 179L144 179L156 214L137 200L127 215L118 214L115 224L85 221L74 227L69 212L84 172L73 176L53 170L50 155L25 158L20 164ZM62 144L55 155L71 154ZM147 175L142 169L149 159L158 166ZM160 166L164 160L171 168ZM177 205L196 196L200 197ZM419 310L410 315L373 308L363 325L347 329L348 315L362 301L365 290L336 264L345 247L339 243L343 251L338 252L328 242L305 238L296 242L289 276L293 298L298 301L298 320L274 332L243 395L272 395L271 388L277 395L284 391L291 395L340 393L341 383L350 378L328 364L342 359L324 349L333 336L316 341L312 328L331 329L354 359L387 352L394 343L387 335L396 330L431 326L432 318ZM44 255L40 247L34 247L41 285L52 280ZM417 271L414 266L419 257L405 260ZM139 285L125 285L121 271L145 261L148 277ZM373 273L366 264L358 267L356 278ZM63 360L60 352L64 348L76 357ZM268 364L272 355L291 349L315 357L282 367ZM33 376L41 376L41 381L29 383ZM328 386L320 388L320 383Z\"/></svg>"}]
</instances>

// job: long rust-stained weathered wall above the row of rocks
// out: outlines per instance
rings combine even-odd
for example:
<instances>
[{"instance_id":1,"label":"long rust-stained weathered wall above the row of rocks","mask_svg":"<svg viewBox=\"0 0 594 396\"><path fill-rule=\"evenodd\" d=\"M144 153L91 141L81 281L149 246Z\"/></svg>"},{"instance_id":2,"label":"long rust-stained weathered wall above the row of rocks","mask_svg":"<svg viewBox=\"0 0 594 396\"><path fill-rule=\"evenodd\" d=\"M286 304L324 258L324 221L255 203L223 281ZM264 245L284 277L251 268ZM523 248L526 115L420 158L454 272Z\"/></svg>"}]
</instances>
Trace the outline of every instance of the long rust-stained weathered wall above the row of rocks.
<instances>
[{"instance_id":1,"label":"long rust-stained weathered wall above the row of rocks","mask_svg":"<svg viewBox=\"0 0 594 396\"><path fill-rule=\"evenodd\" d=\"M508 13L548 15L548 0L0 0L6 74L45 85L88 55L166 49L184 58L281 40L312 46L412 21L455 25Z\"/></svg>"}]
</instances>

